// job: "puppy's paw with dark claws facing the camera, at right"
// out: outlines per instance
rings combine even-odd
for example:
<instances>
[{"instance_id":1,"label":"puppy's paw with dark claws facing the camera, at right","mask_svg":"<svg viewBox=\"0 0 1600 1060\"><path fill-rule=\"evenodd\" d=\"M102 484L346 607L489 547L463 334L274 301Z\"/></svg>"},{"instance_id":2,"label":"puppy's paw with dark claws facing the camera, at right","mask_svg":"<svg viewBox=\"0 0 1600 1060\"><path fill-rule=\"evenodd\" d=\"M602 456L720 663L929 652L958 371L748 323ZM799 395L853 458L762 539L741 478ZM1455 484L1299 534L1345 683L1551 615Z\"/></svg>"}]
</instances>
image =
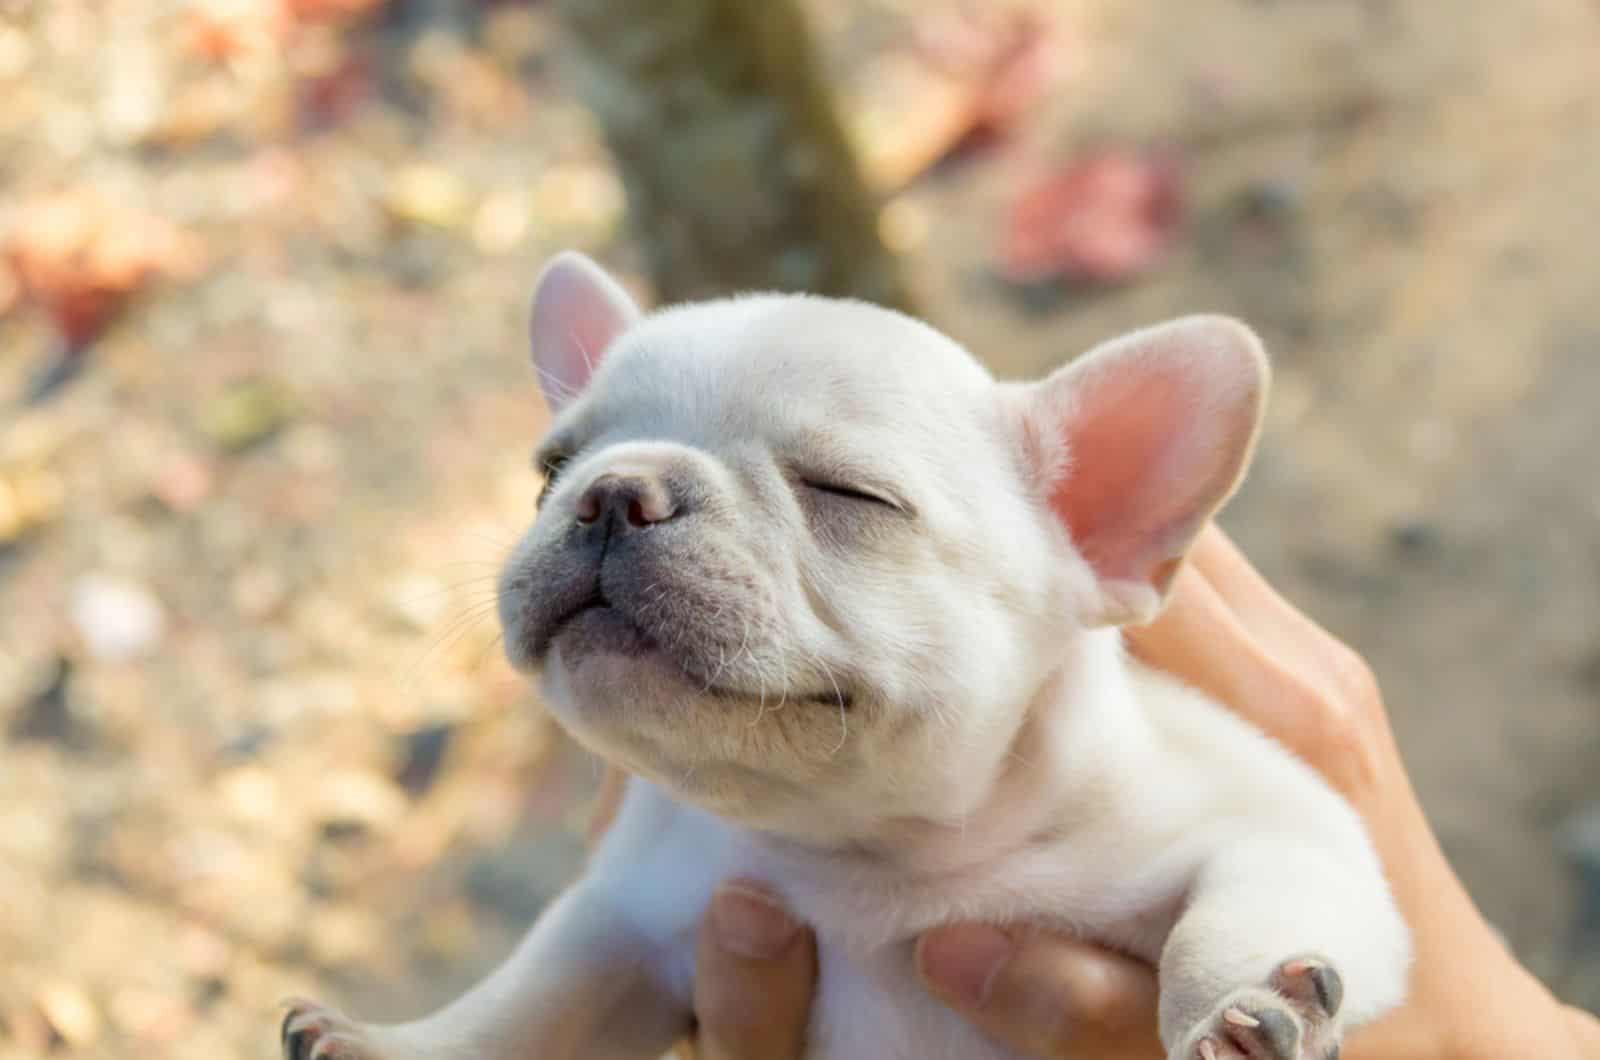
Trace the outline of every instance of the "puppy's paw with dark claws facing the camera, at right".
<instances>
[{"instance_id":1,"label":"puppy's paw with dark claws facing the camera, at right","mask_svg":"<svg viewBox=\"0 0 1600 1060\"><path fill-rule=\"evenodd\" d=\"M1338 1060L1344 980L1317 956L1285 961L1264 986L1218 1004L1174 1060Z\"/></svg>"}]
</instances>

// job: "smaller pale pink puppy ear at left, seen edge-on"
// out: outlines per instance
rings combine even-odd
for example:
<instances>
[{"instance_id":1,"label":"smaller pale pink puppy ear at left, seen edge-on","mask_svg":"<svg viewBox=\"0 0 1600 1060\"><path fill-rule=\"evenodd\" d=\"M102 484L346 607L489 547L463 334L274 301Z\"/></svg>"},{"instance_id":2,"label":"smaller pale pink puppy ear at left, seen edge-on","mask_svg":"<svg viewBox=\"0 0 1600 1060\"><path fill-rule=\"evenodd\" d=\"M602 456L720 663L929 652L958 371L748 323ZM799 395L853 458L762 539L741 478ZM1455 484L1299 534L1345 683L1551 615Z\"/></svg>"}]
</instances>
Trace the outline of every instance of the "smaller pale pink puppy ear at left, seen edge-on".
<instances>
[{"instance_id":1,"label":"smaller pale pink puppy ear at left, seen edge-on","mask_svg":"<svg viewBox=\"0 0 1600 1060\"><path fill-rule=\"evenodd\" d=\"M528 333L552 413L589 386L611 339L637 319L638 306L622 285L587 256L566 250L544 266Z\"/></svg>"}]
</instances>

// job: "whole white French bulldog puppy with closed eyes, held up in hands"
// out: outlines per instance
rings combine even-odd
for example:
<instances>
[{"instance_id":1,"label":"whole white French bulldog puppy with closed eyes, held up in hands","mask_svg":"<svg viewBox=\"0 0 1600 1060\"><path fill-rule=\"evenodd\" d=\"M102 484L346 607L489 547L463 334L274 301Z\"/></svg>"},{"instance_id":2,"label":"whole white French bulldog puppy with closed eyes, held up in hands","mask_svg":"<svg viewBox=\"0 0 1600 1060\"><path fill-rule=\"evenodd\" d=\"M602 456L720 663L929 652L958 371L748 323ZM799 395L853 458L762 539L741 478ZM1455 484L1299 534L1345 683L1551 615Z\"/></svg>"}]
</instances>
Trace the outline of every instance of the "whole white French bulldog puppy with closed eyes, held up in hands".
<instances>
[{"instance_id":1,"label":"whole white French bulldog puppy with closed eyes, held up in hands","mask_svg":"<svg viewBox=\"0 0 1600 1060\"><path fill-rule=\"evenodd\" d=\"M862 303L642 315L568 253L533 357L557 416L506 645L634 780L482 985L403 1025L299 1004L291 1060L659 1057L736 874L816 929L810 1060L1013 1055L915 982L914 940L952 921L1157 964L1174 1060L1325 1060L1402 1001L1408 932L1357 815L1117 629L1248 463L1267 362L1243 325L997 383Z\"/></svg>"}]
</instances>

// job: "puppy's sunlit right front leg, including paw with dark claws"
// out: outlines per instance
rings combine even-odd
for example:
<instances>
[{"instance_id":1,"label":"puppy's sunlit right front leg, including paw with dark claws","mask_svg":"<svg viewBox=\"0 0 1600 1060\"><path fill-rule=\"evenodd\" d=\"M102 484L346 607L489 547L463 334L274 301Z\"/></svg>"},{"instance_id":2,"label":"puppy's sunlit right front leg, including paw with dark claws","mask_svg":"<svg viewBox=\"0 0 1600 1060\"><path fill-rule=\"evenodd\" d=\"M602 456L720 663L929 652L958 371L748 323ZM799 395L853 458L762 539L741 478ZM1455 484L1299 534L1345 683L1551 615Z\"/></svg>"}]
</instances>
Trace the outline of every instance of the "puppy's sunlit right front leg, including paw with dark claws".
<instances>
[{"instance_id":1,"label":"puppy's sunlit right front leg, including paw with dark claws","mask_svg":"<svg viewBox=\"0 0 1600 1060\"><path fill-rule=\"evenodd\" d=\"M1162 950L1173 1060L1331 1060L1405 994L1410 935L1366 850L1261 837L1206 865Z\"/></svg>"}]
</instances>

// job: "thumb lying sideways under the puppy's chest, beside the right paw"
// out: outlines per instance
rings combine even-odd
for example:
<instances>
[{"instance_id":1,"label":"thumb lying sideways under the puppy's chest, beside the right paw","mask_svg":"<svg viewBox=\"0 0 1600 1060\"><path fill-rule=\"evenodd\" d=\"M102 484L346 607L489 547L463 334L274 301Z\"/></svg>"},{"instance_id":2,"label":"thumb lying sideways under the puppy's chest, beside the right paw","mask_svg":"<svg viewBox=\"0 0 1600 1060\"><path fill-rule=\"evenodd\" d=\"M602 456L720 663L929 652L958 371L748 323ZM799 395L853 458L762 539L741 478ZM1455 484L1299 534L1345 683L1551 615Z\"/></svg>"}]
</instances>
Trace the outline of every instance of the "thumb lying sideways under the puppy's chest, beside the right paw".
<instances>
[{"instance_id":1,"label":"thumb lying sideways under the puppy's chest, beside the right paw","mask_svg":"<svg viewBox=\"0 0 1600 1060\"><path fill-rule=\"evenodd\" d=\"M992 1038L1040 1058L1158 1060L1155 972L1090 943L984 924L928 932L917 972Z\"/></svg>"}]
</instances>

